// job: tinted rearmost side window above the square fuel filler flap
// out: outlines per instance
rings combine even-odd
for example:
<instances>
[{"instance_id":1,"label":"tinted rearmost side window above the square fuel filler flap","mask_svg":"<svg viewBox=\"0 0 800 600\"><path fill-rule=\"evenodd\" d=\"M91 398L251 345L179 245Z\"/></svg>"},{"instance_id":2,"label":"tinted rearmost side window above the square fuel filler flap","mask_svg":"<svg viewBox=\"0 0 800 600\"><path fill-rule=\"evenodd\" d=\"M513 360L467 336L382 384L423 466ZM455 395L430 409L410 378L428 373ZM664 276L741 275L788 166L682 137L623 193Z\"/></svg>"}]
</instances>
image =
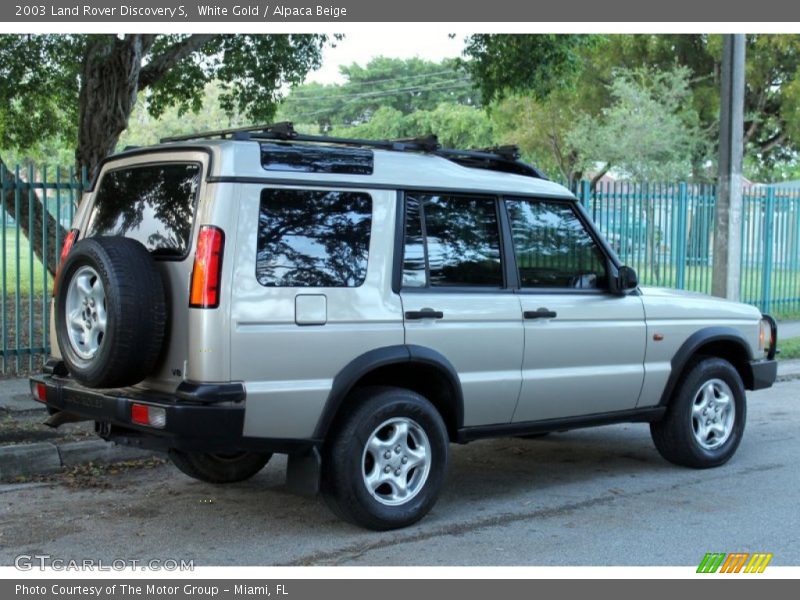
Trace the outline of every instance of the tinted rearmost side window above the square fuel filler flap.
<instances>
[{"instance_id":1,"label":"tinted rearmost side window above the square fuel filler flap","mask_svg":"<svg viewBox=\"0 0 800 600\"><path fill-rule=\"evenodd\" d=\"M263 190L256 278L265 286L359 286L371 223L368 194Z\"/></svg>"}]
</instances>

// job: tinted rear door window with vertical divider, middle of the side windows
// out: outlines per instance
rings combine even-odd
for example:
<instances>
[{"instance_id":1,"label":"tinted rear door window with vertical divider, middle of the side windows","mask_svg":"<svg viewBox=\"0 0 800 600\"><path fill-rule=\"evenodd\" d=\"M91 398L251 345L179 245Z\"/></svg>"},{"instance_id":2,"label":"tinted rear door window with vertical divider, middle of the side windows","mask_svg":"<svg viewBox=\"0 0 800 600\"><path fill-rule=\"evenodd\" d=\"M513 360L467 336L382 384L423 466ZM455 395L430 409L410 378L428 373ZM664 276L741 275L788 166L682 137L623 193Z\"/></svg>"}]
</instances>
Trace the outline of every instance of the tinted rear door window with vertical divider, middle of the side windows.
<instances>
[{"instance_id":1,"label":"tinted rear door window with vertical divider, middle of the side windows","mask_svg":"<svg viewBox=\"0 0 800 600\"><path fill-rule=\"evenodd\" d=\"M502 287L500 232L491 197L406 198L406 287Z\"/></svg>"}]
</instances>

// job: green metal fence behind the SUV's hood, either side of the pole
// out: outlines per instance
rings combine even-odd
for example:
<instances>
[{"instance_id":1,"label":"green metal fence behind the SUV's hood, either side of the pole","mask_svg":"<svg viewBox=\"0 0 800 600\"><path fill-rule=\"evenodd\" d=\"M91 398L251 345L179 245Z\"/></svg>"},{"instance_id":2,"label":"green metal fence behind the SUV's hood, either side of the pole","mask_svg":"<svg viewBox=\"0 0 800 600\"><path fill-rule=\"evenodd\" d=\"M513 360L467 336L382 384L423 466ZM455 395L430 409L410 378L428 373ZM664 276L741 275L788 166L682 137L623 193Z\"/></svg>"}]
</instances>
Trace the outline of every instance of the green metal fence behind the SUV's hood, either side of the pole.
<instances>
[{"instance_id":1,"label":"green metal fence behind the SUV's hood, either side of the pole","mask_svg":"<svg viewBox=\"0 0 800 600\"><path fill-rule=\"evenodd\" d=\"M711 293L715 186L583 181L575 192L642 283ZM800 191L743 190L741 268L743 302L800 312Z\"/></svg>"}]
</instances>

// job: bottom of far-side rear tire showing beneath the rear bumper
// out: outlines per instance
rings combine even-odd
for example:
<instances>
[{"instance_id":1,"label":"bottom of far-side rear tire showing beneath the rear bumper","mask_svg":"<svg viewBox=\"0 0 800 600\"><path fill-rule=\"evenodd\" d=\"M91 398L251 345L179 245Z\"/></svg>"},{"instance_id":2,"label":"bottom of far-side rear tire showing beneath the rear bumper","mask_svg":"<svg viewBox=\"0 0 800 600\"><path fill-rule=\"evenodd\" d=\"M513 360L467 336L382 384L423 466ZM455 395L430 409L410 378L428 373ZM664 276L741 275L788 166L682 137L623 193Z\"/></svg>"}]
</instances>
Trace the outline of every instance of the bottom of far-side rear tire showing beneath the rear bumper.
<instances>
[{"instance_id":1,"label":"bottom of far-side rear tire showing beneath the rear bumper","mask_svg":"<svg viewBox=\"0 0 800 600\"><path fill-rule=\"evenodd\" d=\"M250 479L272 458L264 452L212 454L208 452L169 451L172 463L182 473L207 483L236 483Z\"/></svg>"}]
</instances>

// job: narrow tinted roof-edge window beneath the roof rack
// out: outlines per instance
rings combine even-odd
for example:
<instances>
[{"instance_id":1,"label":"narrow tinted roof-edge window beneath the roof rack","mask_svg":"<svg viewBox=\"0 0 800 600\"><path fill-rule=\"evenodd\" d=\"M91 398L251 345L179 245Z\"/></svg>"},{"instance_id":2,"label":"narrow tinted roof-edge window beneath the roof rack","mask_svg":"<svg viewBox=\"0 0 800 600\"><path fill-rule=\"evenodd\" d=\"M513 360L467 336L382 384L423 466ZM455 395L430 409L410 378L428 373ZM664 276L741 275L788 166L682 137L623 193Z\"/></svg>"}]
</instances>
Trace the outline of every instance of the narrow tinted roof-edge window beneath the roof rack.
<instances>
[{"instance_id":1,"label":"narrow tinted roof-edge window beneath the roof rack","mask_svg":"<svg viewBox=\"0 0 800 600\"><path fill-rule=\"evenodd\" d=\"M267 171L372 175L372 150L305 144L261 144L261 166Z\"/></svg>"}]
</instances>

